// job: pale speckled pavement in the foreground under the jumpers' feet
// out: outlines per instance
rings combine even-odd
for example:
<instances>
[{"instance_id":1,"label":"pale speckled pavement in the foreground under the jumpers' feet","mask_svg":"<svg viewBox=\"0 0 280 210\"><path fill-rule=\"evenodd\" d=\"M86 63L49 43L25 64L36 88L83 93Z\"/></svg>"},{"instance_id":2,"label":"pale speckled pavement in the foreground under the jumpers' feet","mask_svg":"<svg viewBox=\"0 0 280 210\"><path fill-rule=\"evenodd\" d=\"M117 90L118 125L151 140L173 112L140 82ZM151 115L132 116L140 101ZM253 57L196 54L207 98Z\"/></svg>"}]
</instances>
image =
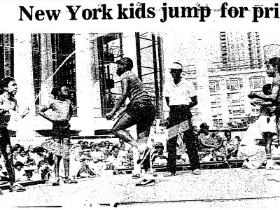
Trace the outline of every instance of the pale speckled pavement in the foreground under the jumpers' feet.
<instances>
[{"instance_id":1,"label":"pale speckled pavement in the foreground under the jumpers' feet","mask_svg":"<svg viewBox=\"0 0 280 210\"><path fill-rule=\"evenodd\" d=\"M280 170L204 169L164 177L158 173L155 186L137 187L131 174L78 179L76 184L53 187L50 183L27 186L24 193L3 190L2 207L99 207L191 209L279 209L280 182L267 181Z\"/></svg>"}]
</instances>

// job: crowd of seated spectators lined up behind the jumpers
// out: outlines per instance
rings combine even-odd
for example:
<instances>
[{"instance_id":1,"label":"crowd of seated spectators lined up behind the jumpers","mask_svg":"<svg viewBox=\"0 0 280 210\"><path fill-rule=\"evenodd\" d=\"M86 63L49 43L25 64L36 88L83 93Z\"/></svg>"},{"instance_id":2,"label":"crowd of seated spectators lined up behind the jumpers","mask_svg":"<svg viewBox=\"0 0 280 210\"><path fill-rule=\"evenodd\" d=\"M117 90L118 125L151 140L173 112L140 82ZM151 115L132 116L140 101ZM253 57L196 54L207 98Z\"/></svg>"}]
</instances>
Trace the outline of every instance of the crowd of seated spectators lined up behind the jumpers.
<instances>
[{"instance_id":1,"label":"crowd of seated spectators lined up behind the jumpers","mask_svg":"<svg viewBox=\"0 0 280 210\"><path fill-rule=\"evenodd\" d=\"M153 125L156 127L156 122ZM166 130L166 122L160 122L161 129L152 130L155 134L160 134L160 138L166 138L162 134ZM200 125L200 130L193 127L195 139L197 139L197 149L201 162L211 162L218 160L235 160L240 159L238 156L239 136L232 137L229 130L225 132L209 132L209 126L206 123ZM180 137L180 135L179 135ZM151 165L167 165L166 139L158 139L152 135L151 144ZM155 140L156 139L156 140ZM181 144L180 141L178 141ZM51 143L44 143L41 146L20 146L15 144L12 148L13 162L15 167L15 178L17 181L29 180L49 180L54 176L54 160L51 151ZM185 146L183 146L185 148ZM178 150L181 147L178 145ZM188 155L186 149L183 153L177 153L179 164L188 164ZM117 144L110 141L78 141L71 144L70 149L70 176L73 179L82 177L102 176L104 169L116 169L133 167L133 152L129 144L125 144L121 139ZM114 171L117 173L117 171ZM63 173L62 173L63 174ZM7 172L3 155L0 152L0 184L7 181Z\"/></svg>"}]
</instances>

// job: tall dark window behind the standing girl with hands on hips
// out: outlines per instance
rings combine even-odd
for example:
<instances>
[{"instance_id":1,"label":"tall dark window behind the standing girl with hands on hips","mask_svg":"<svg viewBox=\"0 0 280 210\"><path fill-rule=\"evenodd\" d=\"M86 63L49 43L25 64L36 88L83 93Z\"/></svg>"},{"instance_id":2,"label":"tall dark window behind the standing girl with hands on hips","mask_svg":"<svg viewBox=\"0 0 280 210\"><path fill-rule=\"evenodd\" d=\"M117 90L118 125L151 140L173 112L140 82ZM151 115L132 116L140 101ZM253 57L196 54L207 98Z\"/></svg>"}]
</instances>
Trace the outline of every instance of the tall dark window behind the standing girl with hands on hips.
<instances>
[{"instance_id":1,"label":"tall dark window behind the standing girl with hands on hips","mask_svg":"<svg viewBox=\"0 0 280 210\"><path fill-rule=\"evenodd\" d=\"M32 64L33 64L33 76L34 76L34 92L35 97L41 92L41 86L43 80L41 80L41 55L46 52L41 50L41 38L45 34L31 34L32 42ZM49 62L52 62L52 73L53 76L53 87L60 87L65 85L69 88L69 97L73 104L73 114L76 116L76 59L75 55L72 55L67 61L60 67L59 71L57 68L64 62L71 52L75 50L75 36L74 34L50 34L50 46L48 49L52 52L52 57ZM57 71L57 72L56 72ZM52 75L49 75L52 76ZM36 106L40 104L40 97L36 99Z\"/></svg>"}]
</instances>

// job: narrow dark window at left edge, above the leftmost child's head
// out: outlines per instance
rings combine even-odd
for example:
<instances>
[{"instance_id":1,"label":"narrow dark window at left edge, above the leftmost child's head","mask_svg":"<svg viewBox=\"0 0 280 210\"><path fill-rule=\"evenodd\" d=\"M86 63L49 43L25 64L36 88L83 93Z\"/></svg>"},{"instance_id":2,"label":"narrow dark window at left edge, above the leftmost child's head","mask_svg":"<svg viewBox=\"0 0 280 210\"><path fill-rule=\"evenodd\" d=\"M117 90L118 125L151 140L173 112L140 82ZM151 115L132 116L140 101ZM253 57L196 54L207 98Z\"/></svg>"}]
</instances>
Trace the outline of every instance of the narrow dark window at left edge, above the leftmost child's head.
<instances>
[{"instance_id":1,"label":"narrow dark window at left edge, above the leftmost child's head","mask_svg":"<svg viewBox=\"0 0 280 210\"><path fill-rule=\"evenodd\" d=\"M0 34L0 79L14 76L13 34Z\"/></svg>"}]
</instances>

